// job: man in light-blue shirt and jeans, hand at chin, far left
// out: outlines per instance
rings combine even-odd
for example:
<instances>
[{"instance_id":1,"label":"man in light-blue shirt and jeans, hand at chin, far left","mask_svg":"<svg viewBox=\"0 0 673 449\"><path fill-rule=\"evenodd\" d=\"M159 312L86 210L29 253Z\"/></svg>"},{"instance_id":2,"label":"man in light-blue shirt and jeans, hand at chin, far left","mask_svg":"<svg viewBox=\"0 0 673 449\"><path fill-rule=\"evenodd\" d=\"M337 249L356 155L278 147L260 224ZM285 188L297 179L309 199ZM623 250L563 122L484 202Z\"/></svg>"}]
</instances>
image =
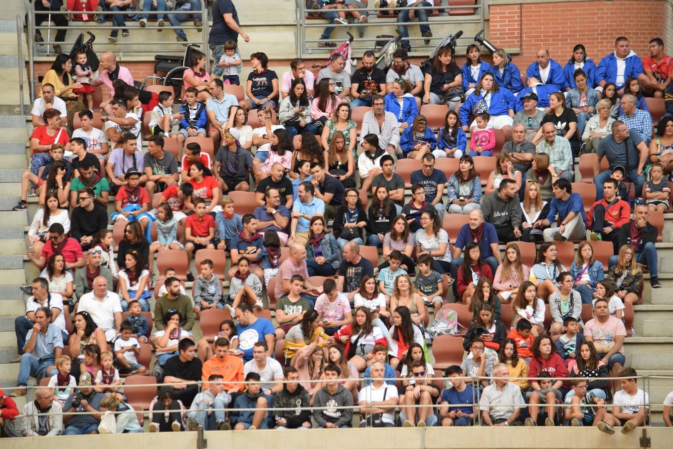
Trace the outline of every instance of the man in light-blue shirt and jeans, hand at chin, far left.
<instances>
[{"instance_id":1,"label":"man in light-blue shirt and jeans, hand at chin, far left","mask_svg":"<svg viewBox=\"0 0 673 449\"><path fill-rule=\"evenodd\" d=\"M38 308L35 312L35 324L26 335L26 344L22 348L17 377L17 389L10 396L26 396L28 377L42 378L53 376L59 370L53 365L54 359L63 353L63 331L59 326L50 324L52 311L48 307Z\"/></svg>"}]
</instances>

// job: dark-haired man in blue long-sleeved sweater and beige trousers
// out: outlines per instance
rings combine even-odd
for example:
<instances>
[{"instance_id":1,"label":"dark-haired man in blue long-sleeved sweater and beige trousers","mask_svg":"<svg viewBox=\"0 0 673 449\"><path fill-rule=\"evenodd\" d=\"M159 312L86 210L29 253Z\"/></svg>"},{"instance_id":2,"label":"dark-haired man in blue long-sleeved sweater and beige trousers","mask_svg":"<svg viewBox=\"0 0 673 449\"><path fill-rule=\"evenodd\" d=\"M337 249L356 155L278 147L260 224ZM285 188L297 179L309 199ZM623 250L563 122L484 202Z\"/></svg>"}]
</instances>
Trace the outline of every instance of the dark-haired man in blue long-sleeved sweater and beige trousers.
<instances>
[{"instance_id":1,"label":"dark-haired man in blue long-sleeved sweater and beige trousers","mask_svg":"<svg viewBox=\"0 0 673 449\"><path fill-rule=\"evenodd\" d=\"M552 184L554 197L551 200L549 213L546 217L538 219L534 228L544 228L551 224L559 215L557 228L546 228L542 235L545 242L560 240L585 240L586 239L586 213L582 197L579 193L573 193L573 186L567 179L557 179Z\"/></svg>"}]
</instances>

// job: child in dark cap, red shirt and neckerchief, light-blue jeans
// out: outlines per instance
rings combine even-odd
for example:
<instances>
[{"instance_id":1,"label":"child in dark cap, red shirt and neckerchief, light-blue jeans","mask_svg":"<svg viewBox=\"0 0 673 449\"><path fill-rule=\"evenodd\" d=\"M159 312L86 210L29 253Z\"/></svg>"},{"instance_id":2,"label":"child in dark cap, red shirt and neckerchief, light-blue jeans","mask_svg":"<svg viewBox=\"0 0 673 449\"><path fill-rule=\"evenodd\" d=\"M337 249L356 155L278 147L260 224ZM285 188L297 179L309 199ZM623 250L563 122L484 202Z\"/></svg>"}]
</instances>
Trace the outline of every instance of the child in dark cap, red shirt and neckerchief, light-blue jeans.
<instances>
[{"instance_id":1,"label":"child in dark cap, red shirt and neckerchief, light-blue jeans","mask_svg":"<svg viewBox=\"0 0 673 449\"><path fill-rule=\"evenodd\" d=\"M115 212L110 215L112 223L117 220L137 221L143 232L149 227L153 218L149 213L149 194L140 186L142 176L135 168L129 168L125 174L127 184L119 188L114 197Z\"/></svg>"}]
</instances>

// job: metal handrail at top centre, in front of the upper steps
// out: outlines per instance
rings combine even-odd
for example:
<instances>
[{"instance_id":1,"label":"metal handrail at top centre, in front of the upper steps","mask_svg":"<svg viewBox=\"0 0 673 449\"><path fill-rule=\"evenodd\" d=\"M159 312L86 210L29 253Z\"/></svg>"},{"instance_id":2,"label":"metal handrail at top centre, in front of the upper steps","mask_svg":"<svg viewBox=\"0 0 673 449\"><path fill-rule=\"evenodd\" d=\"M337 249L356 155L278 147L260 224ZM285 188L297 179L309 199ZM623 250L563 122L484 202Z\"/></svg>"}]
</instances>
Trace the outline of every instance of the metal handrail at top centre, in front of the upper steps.
<instances>
[{"instance_id":1,"label":"metal handrail at top centre, in front of the upper steps","mask_svg":"<svg viewBox=\"0 0 673 449\"><path fill-rule=\"evenodd\" d=\"M474 16L460 16L460 18L452 18L451 16L446 16L446 18L442 18L442 17L435 18L436 20L433 20L433 21L429 20L428 22L420 22L420 21L406 22L406 26L409 26L409 25L460 25L460 24L476 24L476 23L479 23L479 24L481 24L481 28L484 28L485 5L475 3L474 5L466 5L466 6L461 6L461 7L470 7L470 8L473 8L475 10L478 10L478 11L476 11ZM437 5L431 5L431 6L417 6L417 7L414 7L413 9L434 10L434 9L438 9L438 8L441 8L441 7L438 7ZM447 10L450 9L449 6L444 7L444 8L447 9ZM410 9L410 8L409 7L394 7L394 8L386 8L385 10L386 11L398 11L399 12L399 11L406 11L408 9ZM367 27L367 28L369 28L371 26L374 26L374 27L388 26L388 27L390 27L390 26L397 26L398 25L396 22L384 22L384 21L382 21L382 22L369 21L369 22L367 22L367 24L362 24L360 22L353 22L352 24L347 24L347 25L334 24L334 23L328 23L328 24L325 24L325 23L317 23L317 24L316 23L308 23L308 21L306 20L306 14L308 12L319 13L320 11L321 11L320 9L306 9L306 5L305 5L304 1L299 1L299 8L297 8L297 36L299 36L299 34L301 34L301 38L298 39L298 42L297 42L297 56L298 57L301 57L302 54L304 54L304 53L312 53L314 50L324 50L326 52L332 51L331 48L322 48L322 47L319 47L319 46L308 47L306 44L320 42L321 40L320 39L308 39L307 40L306 39L306 28L326 28L326 26L330 26L330 27L337 28L337 29L338 28L349 28L349 27L357 27L357 28ZM334 11L337 11L337 10L334 10ZM381 11L381 9L380 8L375 9L375 8L371 8L371 7L364 7L364 8L349 8L349 9L345 9L345 10L341 10L341 11L346 12L346 13L349 13L351 11L361 12L361 13L374 12L374 13L376 13L375 15L378 15L378 12ZM449 18L451 18L452 20L449 20ZM327 19L324 18L324 20L327 20ZM443 36L435 36L435 37L429 38L429 39L430 40L438 40L438 39L441 39L441 37L443 37ZM421 37L421 36L419 36L419 37L409 36L408 38L406 38L406 40L427 40L427 39L428 38L424 38L424 37ZM472 38L468 37L468 36L463 36L460 39L472 40ZM376 42L378 40L381 40L381 39L377 39L377 38L355 38L353 40L353 42ZM354 50L365 50L365 49L367 49L368 50L368 49L371 49L371 46L352 46L351 45L351 49L354 49Z\"/></svg>"}]
</instances>

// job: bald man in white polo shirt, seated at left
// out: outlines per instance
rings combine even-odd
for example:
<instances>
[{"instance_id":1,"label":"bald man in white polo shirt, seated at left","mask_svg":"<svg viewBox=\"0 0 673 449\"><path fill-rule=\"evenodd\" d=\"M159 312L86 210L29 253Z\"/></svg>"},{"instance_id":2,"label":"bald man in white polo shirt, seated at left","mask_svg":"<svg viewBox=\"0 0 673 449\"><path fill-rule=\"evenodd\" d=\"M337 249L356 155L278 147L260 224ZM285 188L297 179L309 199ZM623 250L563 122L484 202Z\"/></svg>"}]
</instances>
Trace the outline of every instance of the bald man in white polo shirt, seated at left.
<instances>
[{"instance_id":1,"label":"bald man in white polo shirt, seated at left","mask_svg":"<svg viewBox=\"0 0 673 449\"><path fill-rule=\"evenodd\" d=\"M94 279L94 289L79 298L77 312L87 312L96 326L105 331L108 341L119 331L122 324L122 305L117 293L108 290L108 280L104 276Z\"/></svg>"}]
</instances>

